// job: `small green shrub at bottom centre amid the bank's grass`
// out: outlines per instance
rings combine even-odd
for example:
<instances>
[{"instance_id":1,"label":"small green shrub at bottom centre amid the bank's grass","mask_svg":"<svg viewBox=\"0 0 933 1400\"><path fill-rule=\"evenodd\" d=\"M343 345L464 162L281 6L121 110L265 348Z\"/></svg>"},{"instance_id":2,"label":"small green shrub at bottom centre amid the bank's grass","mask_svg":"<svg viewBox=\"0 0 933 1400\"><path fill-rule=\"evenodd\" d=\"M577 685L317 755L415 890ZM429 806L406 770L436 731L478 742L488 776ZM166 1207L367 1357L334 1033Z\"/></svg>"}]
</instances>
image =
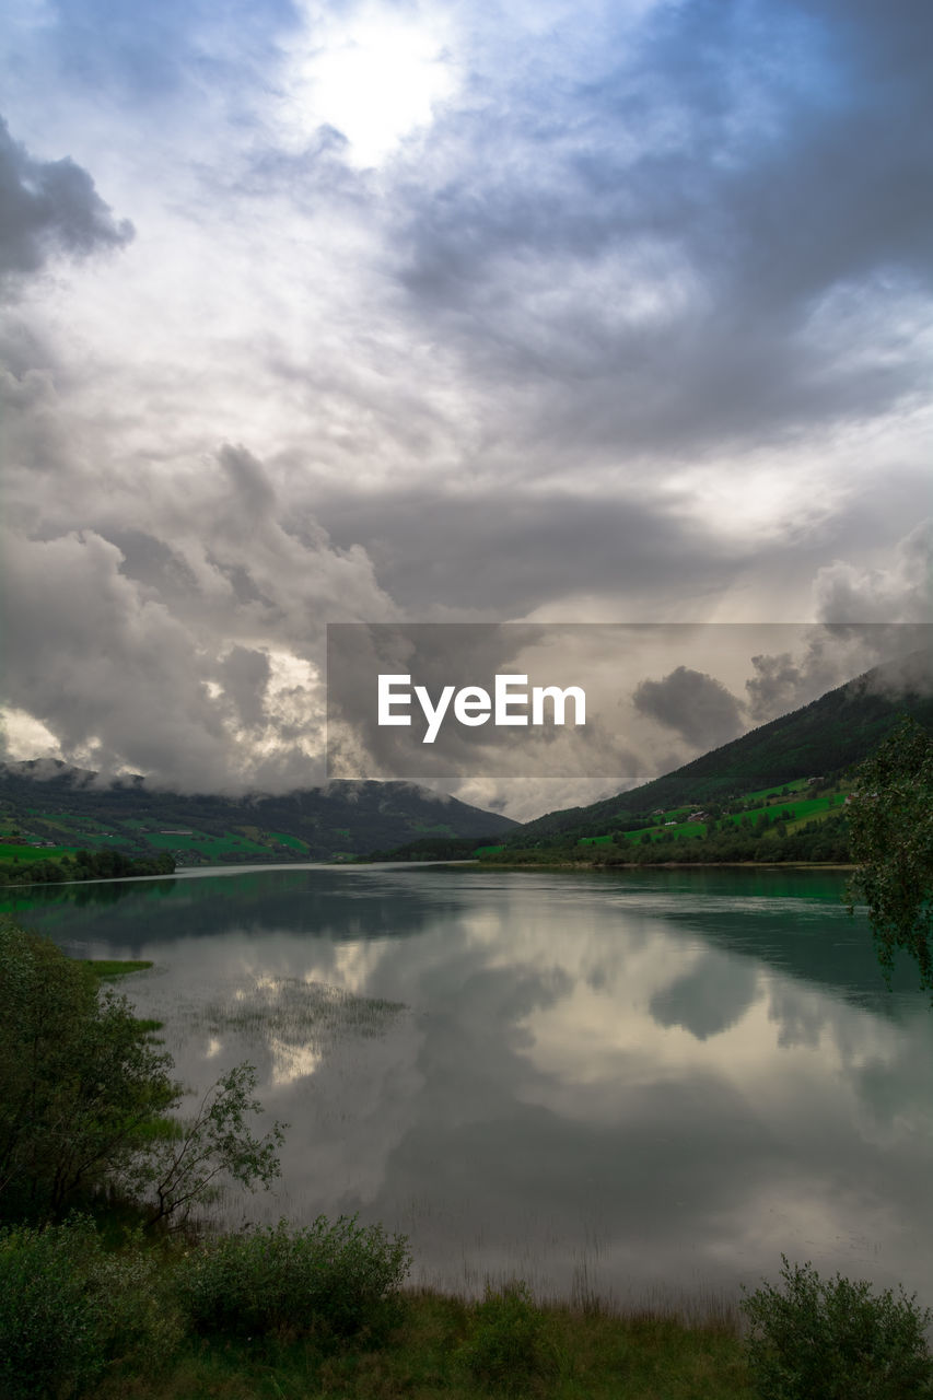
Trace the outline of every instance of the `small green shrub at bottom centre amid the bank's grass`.
<instances>
[{"instance_id":1,"label":"small green shrub at bottom centre amid the bank's grass","mask_svg":"<svg viewBox=\"0 0 933 1400\"><path fill-rule=\"evenodd\" d=\"M527 1392L556 1372L548 1320L527 1284L507 1284L500 1291L486 1287L458 1359L472 1380L502 1390Z\"/></svg>"}]
</instances>

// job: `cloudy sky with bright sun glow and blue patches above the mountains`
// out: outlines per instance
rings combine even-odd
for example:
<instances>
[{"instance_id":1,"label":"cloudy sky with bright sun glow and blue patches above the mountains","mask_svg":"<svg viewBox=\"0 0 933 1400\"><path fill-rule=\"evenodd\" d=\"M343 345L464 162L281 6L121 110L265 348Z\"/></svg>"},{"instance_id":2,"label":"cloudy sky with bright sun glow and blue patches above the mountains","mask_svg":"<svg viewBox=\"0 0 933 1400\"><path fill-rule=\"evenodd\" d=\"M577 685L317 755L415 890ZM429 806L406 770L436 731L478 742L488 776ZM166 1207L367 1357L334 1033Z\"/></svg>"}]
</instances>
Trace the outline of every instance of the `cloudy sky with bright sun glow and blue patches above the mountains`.
<instances>
[{"instance_id":1,"label":"cloudy sky with bright sun glow and blue patches above the mountains","mask_svg":"<svg viewBox=\"0 0 933 1400\"><path fill-rule=\"evenodd\" d=\"M930 620L927 0L0 10L10 759L317 784L328 623ZM880 657L724 650L457 795Z\"/></svg>"}]
</instances>

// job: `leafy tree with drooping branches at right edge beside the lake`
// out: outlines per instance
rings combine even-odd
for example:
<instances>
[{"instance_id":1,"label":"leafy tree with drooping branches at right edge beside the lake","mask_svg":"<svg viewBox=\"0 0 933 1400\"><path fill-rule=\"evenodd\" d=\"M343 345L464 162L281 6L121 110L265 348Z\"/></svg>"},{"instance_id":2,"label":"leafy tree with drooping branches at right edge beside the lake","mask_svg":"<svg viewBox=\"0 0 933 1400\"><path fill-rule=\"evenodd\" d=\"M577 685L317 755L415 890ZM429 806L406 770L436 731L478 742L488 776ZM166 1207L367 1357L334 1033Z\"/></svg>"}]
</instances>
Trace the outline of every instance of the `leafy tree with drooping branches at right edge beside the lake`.
<instances>
[{"instance_id":1,"label":"leafy tree with drooping branches at right edge beside the lake","mask_svg":"<svg viewBox=\"0 0 933 1400\"><path fill-rule=\"evenodd\" d=\"M933 991L933 739L905 718L857 770L850 804L849 911L869 906L890 984L894 955L908 952Z\"/></svg>"}]
</instances>

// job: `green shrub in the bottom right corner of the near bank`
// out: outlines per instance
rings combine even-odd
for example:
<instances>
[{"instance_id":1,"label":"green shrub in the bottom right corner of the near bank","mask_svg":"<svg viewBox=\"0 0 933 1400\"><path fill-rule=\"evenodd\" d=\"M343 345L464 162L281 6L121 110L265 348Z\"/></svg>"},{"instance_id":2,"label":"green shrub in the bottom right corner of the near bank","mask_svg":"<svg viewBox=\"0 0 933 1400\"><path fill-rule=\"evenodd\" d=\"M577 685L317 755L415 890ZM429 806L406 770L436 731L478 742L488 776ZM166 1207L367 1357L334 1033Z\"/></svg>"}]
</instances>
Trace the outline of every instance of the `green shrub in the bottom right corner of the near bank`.
<instances>
[{"instance_id":1,"label":"green shrub in the bottom right corner of the near bank","mask_svg":"<svg viewBox=\"0 0 933 1400\"><path fill-rule=\"evenodd\" d=\"M782 1254L783 1291L765 1284L741 1303L748 1362L762 1400L925 1400L933 1397L929 1309L904 1289L880 1295Z\"/></svg>"}]
</instances>

